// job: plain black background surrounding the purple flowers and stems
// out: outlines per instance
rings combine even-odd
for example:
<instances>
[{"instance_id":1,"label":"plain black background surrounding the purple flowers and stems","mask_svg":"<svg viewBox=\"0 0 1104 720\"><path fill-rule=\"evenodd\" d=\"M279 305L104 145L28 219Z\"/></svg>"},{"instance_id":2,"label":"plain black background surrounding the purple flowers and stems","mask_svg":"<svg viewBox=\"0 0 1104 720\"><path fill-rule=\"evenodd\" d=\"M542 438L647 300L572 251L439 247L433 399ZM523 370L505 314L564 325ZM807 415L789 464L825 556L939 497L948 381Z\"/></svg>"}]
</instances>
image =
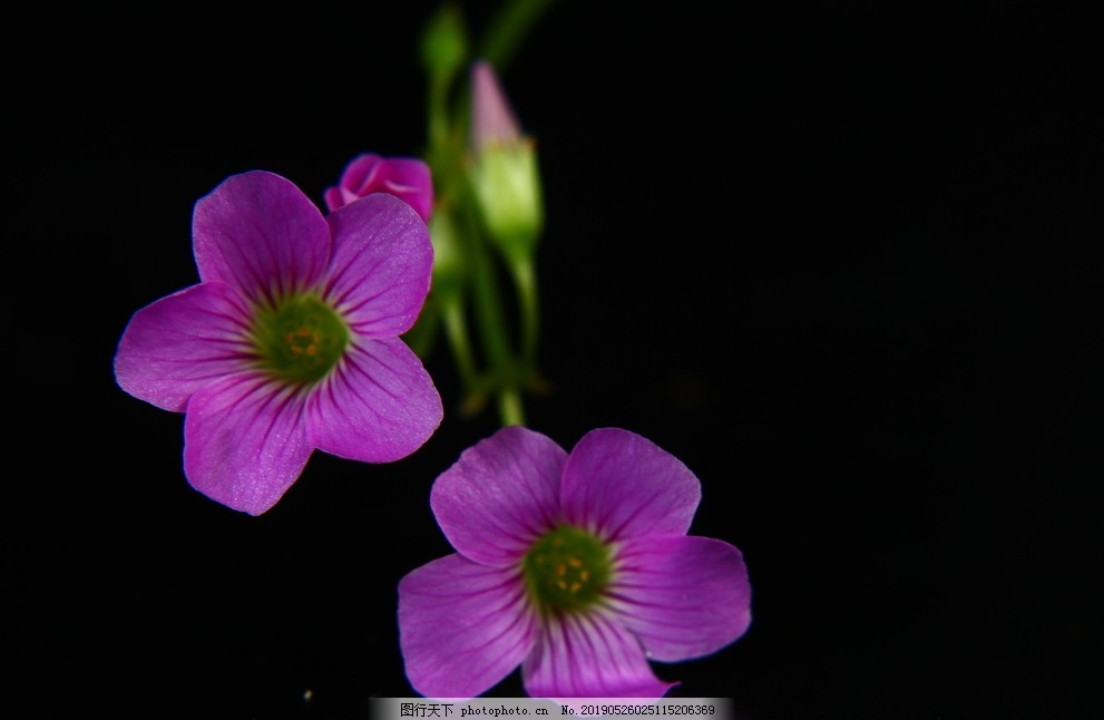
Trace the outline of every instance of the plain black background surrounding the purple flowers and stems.
<instances>
[{"instance_id":1,"label":"plain black background surrounding the purple flowers and stems","mask_svg":"<svg viewBox=\"0 0 1104 720\"><path fill-rule=\"evenodd\" d=\"M881 6L554 6L502 74L548 211L555 389L529 425L565 448L652 439L702 480L692 533L743 549L751 630L656 665L675 694L763 720L1088 717L1097 40L1044 3ZM421 152L431 7L23 29L13 717L365 718L412 693L395 585L450 552L430 485L497 427L453 411L448 357L422 450L315 454L256 518L190 489L183 416L119 390L111 358L133 312L196 282L192 207L225 176L321 203L358 153ZM490 7L466 6L473 30ZM521 691L515 673L491 694Z\"/></svg>"}]
</instances>

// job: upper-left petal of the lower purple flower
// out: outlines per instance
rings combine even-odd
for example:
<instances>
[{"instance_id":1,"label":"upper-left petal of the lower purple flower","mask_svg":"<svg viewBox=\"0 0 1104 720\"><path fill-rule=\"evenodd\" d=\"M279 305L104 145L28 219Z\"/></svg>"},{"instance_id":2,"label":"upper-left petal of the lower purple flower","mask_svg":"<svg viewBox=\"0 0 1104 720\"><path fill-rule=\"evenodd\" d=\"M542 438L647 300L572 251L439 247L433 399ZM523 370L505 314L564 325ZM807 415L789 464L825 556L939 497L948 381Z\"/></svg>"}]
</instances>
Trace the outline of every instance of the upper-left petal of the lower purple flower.
<instances>
[{"instance_id":1,"label":"upper-left petal of the lower purple flower","mask_svg":"<svg viewBox=\"0 0 1104 720\"><path fill-rule=\"evenodd\" d=\"M461 555L514 565L559 520L566 459L564 449L539 432L502 428L437 478L429 498L433 515Z\"/></svg>"}]
</instances>

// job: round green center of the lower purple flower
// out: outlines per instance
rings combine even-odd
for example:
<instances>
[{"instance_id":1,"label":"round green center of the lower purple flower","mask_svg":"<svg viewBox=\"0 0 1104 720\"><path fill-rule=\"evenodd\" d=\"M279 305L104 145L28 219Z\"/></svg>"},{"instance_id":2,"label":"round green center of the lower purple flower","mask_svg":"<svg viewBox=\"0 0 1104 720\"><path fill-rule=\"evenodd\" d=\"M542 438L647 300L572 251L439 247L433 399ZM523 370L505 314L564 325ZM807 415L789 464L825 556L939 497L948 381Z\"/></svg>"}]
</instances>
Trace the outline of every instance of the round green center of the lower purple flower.
<instances>
[{"instance_id":1,"label":"round green center of the lower purple flower","mask_svg":"<svg viewBox=\"0 0 1104 720\"><path fill-rule=\"evenodd\" d=\"M609 584L609 547L578 527L561 525L534 543L522 561L529 594L543 612L595 604Z\"/></svg>"}]
</instances>

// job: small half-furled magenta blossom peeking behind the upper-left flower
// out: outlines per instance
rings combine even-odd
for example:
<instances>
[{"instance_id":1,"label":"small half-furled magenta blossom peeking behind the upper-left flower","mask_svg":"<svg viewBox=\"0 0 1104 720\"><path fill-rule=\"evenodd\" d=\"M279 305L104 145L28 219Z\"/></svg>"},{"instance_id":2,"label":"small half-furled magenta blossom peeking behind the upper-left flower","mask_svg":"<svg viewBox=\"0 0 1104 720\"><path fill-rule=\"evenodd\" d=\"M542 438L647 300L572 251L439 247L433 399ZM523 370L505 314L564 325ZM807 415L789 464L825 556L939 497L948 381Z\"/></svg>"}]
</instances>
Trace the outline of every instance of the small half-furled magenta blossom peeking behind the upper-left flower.
<instances>
[{"instance_id":1,"label":"small half-furled magenta blossom peeking behind the upper-left flower","mask_svg":"<svg viewBox=\"0 0 1104 720\"><path fill-rule=\"evenodd\" d=\"M330 211L343 207L372 193L388 193L407 203L429 222L433 212L433 179L429 165L407 157L360 155L341 174L341 184L328 187L325 204Z\"/></svg>"}]
</instances>

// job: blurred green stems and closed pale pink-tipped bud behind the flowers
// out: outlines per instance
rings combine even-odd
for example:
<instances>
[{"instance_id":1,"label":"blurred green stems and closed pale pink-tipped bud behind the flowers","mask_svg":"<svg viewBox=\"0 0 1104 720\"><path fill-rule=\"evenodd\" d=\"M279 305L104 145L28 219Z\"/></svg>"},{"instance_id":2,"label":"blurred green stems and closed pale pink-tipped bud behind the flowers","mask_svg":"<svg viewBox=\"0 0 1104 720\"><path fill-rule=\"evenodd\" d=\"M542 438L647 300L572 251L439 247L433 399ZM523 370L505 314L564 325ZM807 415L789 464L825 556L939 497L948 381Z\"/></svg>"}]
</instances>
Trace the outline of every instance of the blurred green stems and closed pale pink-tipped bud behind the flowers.
<instances>
[{"instance_id":1,"label":"blurred green stems and closed pale pink-tipped bud behind the flowers","mask_svg":"<svg viewBox=\"0 0 1104 720\"><path fill-rule=\"evenodd\" d=\"M412 346L424 359L431 337L443 335L461 385L461 413L494 405L504 426L524 425L525 395L545 387L536 271L544 207L535 143L521 135L494 68L510 60L551 4L504 3L478 43L459 8L444 4L427 23L420 46L427 75L424 158L437 193L430 233L437 264L452 262L441 252L451 249L462 269L446 279L446 271L434 267L427 305L432 311L419 320Z\"/></svg>"}]
</instances>

